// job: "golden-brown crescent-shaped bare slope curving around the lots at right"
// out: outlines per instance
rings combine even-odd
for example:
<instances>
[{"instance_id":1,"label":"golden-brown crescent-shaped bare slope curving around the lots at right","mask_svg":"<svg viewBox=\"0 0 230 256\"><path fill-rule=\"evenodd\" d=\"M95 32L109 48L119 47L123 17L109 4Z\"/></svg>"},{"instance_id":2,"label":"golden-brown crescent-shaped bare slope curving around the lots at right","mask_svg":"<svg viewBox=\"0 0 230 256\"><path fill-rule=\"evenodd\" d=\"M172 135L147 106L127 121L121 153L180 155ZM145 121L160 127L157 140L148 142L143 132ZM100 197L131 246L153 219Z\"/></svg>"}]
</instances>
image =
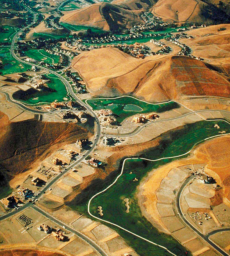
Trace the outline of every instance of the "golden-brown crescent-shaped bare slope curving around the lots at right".
<instances>
[{"instance_id":1,"label":"golden-brown crescent-shaped bare slope curving around the lots at right","mask_svg":"<svg viewBox=\"0 0 230 256\"><path fill-rule=\"evenodd\" d=\"M224 198L230 200L229 153L230 136L221 136L198 146L190 157L173 161L150 172L142 180L138 192L139 205L142 208L142 212L145 213L145 217L159 230L168 233L164 223L161 221L161 216L156 206L156 190L160 187L161 181L168 175L172 168L183 165L207 163L205 172L214 177L217 183L223 188L223 191L220 190L218 195L212 198L212 202L216 204L217 199L221 199L219 200L221 202Z\"/></svg>"}]
</instances>

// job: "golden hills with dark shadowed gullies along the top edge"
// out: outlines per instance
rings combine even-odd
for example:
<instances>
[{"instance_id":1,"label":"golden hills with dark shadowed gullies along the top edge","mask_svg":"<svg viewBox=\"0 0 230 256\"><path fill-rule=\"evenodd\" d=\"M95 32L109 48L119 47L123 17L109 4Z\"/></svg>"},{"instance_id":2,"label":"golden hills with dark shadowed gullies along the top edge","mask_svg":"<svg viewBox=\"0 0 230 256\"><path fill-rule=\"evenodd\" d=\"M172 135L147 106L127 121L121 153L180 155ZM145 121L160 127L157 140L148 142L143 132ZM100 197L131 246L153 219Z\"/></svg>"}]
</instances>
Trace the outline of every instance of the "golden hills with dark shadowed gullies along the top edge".
<instances>
[{"instance_id":1,"label":"golden hills with dark shadowed gullies along the top edge","mask_svg":"<svg viewBox=\"0 0 230 256\"><path fill-rule=\"evenodd\" d=\"M90 7L74 10L61 17L72 25L96 26L116 32L143 23L141 12L152 12L164 21L174 23L224 23L230 16L219 5L201 0L127 0L113 3L96 3Z\"/></svg>"}]
</instances>

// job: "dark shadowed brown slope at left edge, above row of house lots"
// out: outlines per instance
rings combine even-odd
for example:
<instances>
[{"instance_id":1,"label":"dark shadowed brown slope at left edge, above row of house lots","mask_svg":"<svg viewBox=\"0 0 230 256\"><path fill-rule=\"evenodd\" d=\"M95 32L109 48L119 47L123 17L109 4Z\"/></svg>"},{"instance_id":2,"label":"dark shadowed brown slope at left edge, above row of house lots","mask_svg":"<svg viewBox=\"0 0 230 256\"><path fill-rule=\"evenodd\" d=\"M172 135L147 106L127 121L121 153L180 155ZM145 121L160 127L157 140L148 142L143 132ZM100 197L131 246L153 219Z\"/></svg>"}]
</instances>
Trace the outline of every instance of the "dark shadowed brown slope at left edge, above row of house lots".
<instances>
[{"instance_id":1,"label":"dark shadowed brown slope at left edge, above row of house lots","mask_svg":"<svg viewBox=\"0 0 230 256\"><path fill-rule=\"evenodd\" d=\"M0 112L0 165L13 175L48 157L62 145L93 134L93 122L82 124L41 122L29 119L10 122Z\"/></svg>"}]
</instances>

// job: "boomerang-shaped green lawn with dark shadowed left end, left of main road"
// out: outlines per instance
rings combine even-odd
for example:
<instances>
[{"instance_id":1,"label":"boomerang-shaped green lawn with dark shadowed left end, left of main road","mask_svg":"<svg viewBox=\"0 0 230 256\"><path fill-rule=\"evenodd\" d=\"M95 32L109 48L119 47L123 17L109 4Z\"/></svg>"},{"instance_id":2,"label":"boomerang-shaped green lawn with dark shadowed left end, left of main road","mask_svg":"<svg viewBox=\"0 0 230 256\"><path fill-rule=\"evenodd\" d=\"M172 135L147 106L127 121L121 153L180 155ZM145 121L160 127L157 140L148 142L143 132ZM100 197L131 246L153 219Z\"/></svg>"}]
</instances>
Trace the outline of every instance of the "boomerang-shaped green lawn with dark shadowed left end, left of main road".
<instances>
[{"instance_id":1,"label":"boomerang-shaped green lawn with dark shadowed left end, left of main road","mask_svg":"<svg viewBox=\"0 0 230 256\"><path fill-rule=\"evenodd\" d=\"M42 90L35 92L30 95L26 95L23 99L20 99L23 102L31 105L42 105L46 103L51 103L54 100L64 101L65 99L69 100L69 96L67 96L66 87L62 83L62 81L54 74L46 75L46 78L49 81L46 83L50 89L53 91Z\"/></svg>"}]
</instances>

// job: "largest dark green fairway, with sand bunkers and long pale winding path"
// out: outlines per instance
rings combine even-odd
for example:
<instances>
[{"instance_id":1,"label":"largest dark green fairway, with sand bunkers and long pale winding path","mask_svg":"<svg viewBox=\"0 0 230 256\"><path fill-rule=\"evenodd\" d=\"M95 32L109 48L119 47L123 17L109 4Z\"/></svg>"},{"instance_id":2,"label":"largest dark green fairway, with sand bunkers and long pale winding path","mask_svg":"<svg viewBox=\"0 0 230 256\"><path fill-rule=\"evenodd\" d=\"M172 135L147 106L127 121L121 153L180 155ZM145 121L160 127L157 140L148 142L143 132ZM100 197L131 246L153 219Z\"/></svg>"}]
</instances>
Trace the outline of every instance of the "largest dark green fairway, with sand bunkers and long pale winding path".
<instances>
[{"instance_id":1,"label":"largest dark green fairway, with sand bunkers and long pale winding path","mask_svg":"<svg viewBox=\"0 0 230 256\"><path fill-rule=\"evenodd\" d=\"M214 128L214 125L218 124L220 129ZM218 131L225 130L226 133L230 130L230 125L224 121L200 121L194 124L187 124L183 129L169 131L167 135L163 137L163 141L158 147L149 149L147 152L141 155L143 158L152 160L159 159L161 157L175 157L182 155L191 150L195 144L199 143L210 136L220 135ZM183 156L184 157L184 156ZM146 220L139 208L138 200L136 198L137 187L140 181L145 177L149 171L164 165L166 162L170 162L181 157L174 159L163 159L156 162L151 162L142 159L127 160L124 165L122 176L117 182L106 190L95 197L90 204L90 212L101 218L115 223L123 228L140 235L154 243L161 244L167 247L170 251L176 255L184 255L186 249L181 246L171 236L159 233L151 223ZM97 180L92 182L87 190L82 193L81 196L77 197L71 202L71 207L81 213L87 215L87 202L95 195L95 193L102 191L108 187L115 178L120 174L121 169L115 173L111 173L105 180ZM132 172L132 174L130 174ZM134 176L138 181L133 182ZM124 198L129 198L130 201L130 212L126 213ZM102 206L104 216L100 217L97 211L98 206ZM89 215L87 215L89 216ZM92 217L91 217L92 218ZM107 225L107 223L104 223ZM111 226L111 225L108 225ZM140 238L115 227L115 229L123 238L126 239L128 244L136 250L141 256L146 255L158 255L166 256L170 255L164 249L154 246ZM189 254L191 255L191 254Z\"/></svg>"}]
</instances>

